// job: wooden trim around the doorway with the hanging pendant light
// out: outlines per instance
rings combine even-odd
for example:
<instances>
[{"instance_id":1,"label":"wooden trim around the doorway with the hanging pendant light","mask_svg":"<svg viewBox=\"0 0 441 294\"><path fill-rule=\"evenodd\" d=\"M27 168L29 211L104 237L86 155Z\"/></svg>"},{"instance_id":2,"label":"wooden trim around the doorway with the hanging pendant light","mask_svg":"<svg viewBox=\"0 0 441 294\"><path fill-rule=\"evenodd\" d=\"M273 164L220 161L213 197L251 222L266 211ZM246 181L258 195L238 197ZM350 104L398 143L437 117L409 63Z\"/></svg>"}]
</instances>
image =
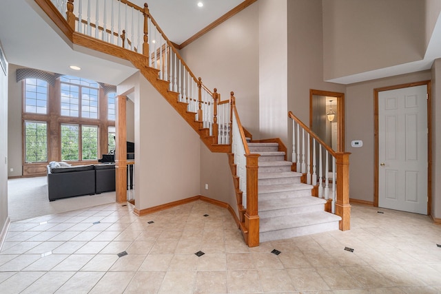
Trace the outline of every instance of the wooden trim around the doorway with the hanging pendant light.
<instances>
[{"instance_id":1,"label":"wooden trim around the doorway with the hanging pendant light","mask_svg":"<svg viewBox=\"0 0 441 294\"><path fill-rule=\"evenodd\" d=\"M345 93L310 89L309 90L309 128L312 127L312 117L313 117L312 99L314 95L337 98L338 142L337 142L337 150L335 151L345 152Z\"/></svg>"}]
</instances>

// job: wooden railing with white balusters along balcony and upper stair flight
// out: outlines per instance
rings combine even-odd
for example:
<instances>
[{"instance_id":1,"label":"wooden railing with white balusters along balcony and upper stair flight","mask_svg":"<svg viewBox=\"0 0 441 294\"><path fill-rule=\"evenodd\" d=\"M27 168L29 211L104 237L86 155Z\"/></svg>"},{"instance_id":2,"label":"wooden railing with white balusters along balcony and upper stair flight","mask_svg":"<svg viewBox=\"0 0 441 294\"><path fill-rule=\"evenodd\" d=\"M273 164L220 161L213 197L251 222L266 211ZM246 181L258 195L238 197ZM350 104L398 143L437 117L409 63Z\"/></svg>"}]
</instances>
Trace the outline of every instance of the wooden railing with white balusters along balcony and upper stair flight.
<instances>
[{"instance_id":1,"label":"wooden railing with white balusters along balcony and upper stair flight","mask_svg":"<svg viewBox=\"0 0 441 294\"><path fill-rule=\"evenodd\" d=\"M158 70L158 78L178 93L195 119L209 129L214 143L229 143L229 101L211 92L196 78L173 43L158 26L147 3L136 6L127 0L50 0L72 30L94 39L147 56L147 66Z\"/></svg>"}]
</instances>

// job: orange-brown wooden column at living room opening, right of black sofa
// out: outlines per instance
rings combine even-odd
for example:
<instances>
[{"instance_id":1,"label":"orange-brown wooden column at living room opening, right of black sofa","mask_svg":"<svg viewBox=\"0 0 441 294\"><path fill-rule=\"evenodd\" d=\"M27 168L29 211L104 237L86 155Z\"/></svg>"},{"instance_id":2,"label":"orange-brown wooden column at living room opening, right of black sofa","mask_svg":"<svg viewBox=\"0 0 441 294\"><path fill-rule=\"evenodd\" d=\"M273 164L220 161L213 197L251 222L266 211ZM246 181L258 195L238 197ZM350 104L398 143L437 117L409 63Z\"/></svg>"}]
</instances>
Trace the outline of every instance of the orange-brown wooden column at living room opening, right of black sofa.
<instances>
[{"instance_id":1,"label":"orange-brown wooden column at living room opening, right of black sofa","mask_svg":"<svg viewBox=\"0 0 441 294\"><path fill-rule=\"evenodd\" d=\"M126 96L116 98L115 181L116 202L127 201L127 135L125 123Z\"/></svg>"}]
</instances>

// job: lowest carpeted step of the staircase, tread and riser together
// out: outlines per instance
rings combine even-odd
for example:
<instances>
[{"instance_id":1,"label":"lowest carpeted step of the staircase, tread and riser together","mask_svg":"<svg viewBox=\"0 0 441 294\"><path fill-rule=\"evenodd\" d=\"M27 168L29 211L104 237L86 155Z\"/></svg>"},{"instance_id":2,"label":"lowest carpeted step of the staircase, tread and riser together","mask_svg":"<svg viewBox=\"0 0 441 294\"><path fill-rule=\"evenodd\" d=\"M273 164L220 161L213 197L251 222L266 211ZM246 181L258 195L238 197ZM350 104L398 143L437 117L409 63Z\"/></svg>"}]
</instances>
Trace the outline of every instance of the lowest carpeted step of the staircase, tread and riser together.
<instances>
[{"instance_id":1,"label":"lowest carpeted step of the staircase, tread and riser together","mask_svg":"<svg viewBox=\"0 0 441 294\"><path fill-rule=\"evenodd\" d=\"M340 216L325 211L260 220L260 242L338 230Z\"/></svg>"}]
</instances>

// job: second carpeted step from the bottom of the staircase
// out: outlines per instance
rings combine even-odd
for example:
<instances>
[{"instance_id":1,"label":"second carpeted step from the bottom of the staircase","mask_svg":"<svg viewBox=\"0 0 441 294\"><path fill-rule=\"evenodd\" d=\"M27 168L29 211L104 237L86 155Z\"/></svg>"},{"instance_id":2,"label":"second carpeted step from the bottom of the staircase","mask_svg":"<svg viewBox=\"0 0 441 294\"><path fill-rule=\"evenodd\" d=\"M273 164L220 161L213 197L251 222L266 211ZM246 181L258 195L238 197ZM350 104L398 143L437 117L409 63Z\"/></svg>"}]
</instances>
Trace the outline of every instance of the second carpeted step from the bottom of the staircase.
<instances>
[{"instance_id":1,"label":"second carpeted step from the bottom of the staircase","mask_svg":"<svg viewBox=\"0 0 441 294\"><path fill-rule=\"evenodd\" d=\"M314 196L288 199L259 200L259 218L293 216L300 213L324 211L327 200Z\"/></svg>"}]
</instances>

